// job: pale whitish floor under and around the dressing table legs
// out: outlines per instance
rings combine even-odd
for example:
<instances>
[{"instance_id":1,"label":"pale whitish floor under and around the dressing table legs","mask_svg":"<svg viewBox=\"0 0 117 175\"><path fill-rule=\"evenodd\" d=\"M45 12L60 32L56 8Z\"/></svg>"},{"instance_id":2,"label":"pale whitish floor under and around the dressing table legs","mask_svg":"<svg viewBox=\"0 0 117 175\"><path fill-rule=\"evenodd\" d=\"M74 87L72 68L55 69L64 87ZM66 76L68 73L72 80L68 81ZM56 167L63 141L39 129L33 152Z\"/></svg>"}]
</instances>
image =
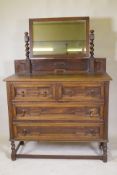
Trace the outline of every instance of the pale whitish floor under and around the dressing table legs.
<instances>
[{"instance_id":1,"label":"pale whitish floor under and around the dressing table legs","mask_svg":"<svg viewBox=\"0 0 117 175\"><path fill-rule=\"evenodd\" d=\"M42 154L97 154L96 143L44 144L26 143L20 151ZM0 138L0 175L117 175L117 141L110 139L108 162L100 160L10 159L10 142Z\"/></svg>"}]
</instances>

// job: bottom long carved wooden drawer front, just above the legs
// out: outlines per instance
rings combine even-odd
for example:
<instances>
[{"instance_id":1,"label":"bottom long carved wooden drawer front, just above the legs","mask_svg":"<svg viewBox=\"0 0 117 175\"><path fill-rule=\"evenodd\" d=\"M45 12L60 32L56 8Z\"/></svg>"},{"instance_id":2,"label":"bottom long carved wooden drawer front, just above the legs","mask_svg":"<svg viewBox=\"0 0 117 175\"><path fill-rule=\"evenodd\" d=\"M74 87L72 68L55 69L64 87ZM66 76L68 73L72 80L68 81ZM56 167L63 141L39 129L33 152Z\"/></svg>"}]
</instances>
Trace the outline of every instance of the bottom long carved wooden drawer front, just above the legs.
<instances>
[{"instance_id":1,"label":"bottom long carved wooden drawer front, just above the legs","mask_svg":"<svg viewBox=\"0 0 117 175\"><path fill-rule=\"evenodd\" d=\"M16 124L15 139L39 141L96 141L103 139L101 124Z\"/></svg>"}]
</instances>

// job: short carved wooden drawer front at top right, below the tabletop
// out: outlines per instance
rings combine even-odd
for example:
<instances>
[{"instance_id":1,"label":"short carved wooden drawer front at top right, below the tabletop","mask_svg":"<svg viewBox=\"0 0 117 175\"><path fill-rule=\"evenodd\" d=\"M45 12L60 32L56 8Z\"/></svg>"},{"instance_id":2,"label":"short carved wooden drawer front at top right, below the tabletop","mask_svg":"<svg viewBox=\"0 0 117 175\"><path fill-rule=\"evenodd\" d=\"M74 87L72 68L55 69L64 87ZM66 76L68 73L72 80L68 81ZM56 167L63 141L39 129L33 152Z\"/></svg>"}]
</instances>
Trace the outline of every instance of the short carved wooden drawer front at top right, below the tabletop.
<instances>
[{"instance_id":1,"label":"short carved wooden drawer front at top right, below the tabletop","mask_svg":"<svg viewBox=\"0 0 117 175\"><path fill-rule=\"evenodd\" d=\"M60 100L82 101L82 100L103 100L104 86L100 83L71 83L63 84Z\"/></svg>"}]
</instances>

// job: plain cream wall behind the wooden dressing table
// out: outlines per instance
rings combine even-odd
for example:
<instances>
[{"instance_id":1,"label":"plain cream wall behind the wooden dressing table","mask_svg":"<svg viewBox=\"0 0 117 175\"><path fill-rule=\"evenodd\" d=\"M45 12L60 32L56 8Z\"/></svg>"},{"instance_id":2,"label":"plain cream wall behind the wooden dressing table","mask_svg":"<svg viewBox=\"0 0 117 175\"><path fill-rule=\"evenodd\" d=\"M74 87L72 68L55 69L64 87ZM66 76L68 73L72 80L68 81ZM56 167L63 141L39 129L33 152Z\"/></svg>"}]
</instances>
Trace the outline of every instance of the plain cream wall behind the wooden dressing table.
<instances>
[{"instance_id":1,"label":"plain cream wall behind the wooden dressing table","mask_svg":"<svg viewBox=\"0 0 117 175\"><path fill-rule=\"evenodd\" d=\"M107 58L107 72L111 75L113 79L110 83L110 97L109 97L109 140L110 143L116 142L117 140L117 116L116 116L117 115L117 1L116 0L0 0L0 142L1 144L4 139L8 140L9 135L6 88L3 79L11 74L14 74L15 59L25 58L24 32L28 31L29 29L28 19L44 18L44 17L46 18L65 17L65 16L89 16L90 28L95 30L95 56ZM5 173L3 172L3 174Z\"/></svg>"}]
</instances>

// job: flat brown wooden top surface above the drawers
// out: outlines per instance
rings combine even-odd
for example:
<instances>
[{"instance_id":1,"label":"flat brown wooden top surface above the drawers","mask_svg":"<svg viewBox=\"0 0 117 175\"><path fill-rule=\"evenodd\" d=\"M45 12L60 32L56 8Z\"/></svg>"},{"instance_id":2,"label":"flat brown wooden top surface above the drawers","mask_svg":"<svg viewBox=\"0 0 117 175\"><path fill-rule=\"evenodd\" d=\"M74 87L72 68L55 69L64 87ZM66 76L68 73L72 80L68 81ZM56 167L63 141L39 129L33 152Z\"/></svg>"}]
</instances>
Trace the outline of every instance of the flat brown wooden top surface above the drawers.
<instances>
[{"instance_id":1,"label":"flat brown wooden top surface above the drawers","mask_svg":"<svg viewBox=\"0 0 117 175\"><path fill-rule=\"evenodd\" d=\"M38 81L109 81L111 77L105 74L74 74L74 75L12 75L7 77L4 81L17 81L17 82L38 82Z\"/></svg>"}]
</instances>

